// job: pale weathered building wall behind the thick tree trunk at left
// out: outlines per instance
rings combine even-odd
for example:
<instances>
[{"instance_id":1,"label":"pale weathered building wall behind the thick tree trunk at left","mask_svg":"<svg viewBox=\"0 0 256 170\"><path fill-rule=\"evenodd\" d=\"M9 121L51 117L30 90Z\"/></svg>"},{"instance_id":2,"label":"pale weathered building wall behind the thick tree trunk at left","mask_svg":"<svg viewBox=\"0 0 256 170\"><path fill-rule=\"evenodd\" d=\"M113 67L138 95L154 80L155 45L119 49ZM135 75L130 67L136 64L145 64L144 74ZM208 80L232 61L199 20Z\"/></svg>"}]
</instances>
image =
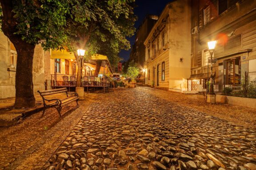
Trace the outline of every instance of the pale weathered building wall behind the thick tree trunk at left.
<instances>
[{"instance_id":1,"label":"pale weathered building wall behind the thick tree trunk at left","mask_svg":"<svg viewBox=\"0 0 256 170\"><path fill-rule=\"evenodd\" d=\"M0 31L0 99L15 97L17 52L12 42ZM36 45L33 58L34 93L44 90L44 50Z\"/></svg>"}]
</instances>

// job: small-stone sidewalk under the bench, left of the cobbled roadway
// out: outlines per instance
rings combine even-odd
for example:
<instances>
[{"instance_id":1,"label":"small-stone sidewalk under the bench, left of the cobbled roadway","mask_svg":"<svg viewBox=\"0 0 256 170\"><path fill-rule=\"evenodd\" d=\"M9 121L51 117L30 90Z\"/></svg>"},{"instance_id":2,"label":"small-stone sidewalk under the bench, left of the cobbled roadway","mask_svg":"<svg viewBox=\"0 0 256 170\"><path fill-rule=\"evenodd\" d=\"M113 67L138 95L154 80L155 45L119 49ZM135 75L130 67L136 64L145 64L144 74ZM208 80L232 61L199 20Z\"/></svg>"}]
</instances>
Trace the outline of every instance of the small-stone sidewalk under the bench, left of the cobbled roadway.
<instances>
[{"instance_id":1,"label":"small-stone sidewalk under the bench, left of the cobbled roadway","mask_svg":"<svg viewBox=\"0 0 256 170\"><path fill-rule=\"evenodd\" d=\"M0 128L0 170L37 170L51 157L76 126L96 94L64 106L61 118L55 108L38 112L20 124ZM76 109L76 110L75 110ZM72 113L72 114L71 114Z\"/></svg>"}]
</instances>

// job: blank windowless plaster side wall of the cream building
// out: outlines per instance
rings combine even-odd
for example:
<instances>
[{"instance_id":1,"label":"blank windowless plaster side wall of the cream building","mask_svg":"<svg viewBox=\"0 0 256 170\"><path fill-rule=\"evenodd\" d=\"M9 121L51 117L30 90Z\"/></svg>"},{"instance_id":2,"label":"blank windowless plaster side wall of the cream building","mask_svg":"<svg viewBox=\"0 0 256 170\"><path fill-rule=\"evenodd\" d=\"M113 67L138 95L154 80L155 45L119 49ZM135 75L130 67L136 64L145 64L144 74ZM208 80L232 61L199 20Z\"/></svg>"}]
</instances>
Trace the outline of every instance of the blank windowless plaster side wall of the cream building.
<instances>
[{"instance_id":1,"label":"blank windowless plaster side wall of the cream building","mask_svg":"<svg viewBox=\"0 0 256 170\"><path fill-rule=\"evenodd\" d=\"M191 12L189 0L169 6L169 90L181 92L190 77Z\"/></svg>"}]
</instances>

